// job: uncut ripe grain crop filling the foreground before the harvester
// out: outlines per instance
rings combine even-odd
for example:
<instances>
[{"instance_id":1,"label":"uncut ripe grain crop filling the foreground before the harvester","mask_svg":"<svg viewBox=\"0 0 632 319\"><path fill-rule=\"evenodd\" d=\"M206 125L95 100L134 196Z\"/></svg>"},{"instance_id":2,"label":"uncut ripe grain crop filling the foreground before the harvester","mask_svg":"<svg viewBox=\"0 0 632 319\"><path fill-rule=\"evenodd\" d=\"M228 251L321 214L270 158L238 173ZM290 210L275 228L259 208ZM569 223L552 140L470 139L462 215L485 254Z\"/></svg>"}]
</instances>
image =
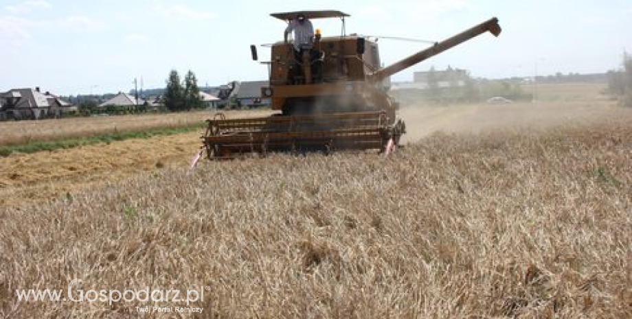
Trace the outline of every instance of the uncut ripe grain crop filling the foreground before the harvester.
<instances>
[{"instance_id":1,"label":"uncut ripe grain crop filling the foreground before the harvester","mask_svg":"<svg viewBox=\"0 0 632 319\"><path fill-rule=\"evenodd\" d=\"M84 291L209 285L195 305L219 318L630 317L631 136L629 119L433 134L390 159L204 163L3 210L0 309L146 305L16 301L79 278Z\"/></svg>"}]
</instances>

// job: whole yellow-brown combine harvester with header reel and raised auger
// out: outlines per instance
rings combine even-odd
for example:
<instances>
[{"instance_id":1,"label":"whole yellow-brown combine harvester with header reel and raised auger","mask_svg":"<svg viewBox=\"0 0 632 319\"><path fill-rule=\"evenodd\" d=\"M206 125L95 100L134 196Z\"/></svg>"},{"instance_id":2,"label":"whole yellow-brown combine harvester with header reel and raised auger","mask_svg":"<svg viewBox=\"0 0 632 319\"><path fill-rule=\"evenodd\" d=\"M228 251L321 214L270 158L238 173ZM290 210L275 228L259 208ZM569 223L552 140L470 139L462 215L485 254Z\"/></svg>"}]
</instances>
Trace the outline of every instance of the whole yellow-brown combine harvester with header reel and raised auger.
<instances>
[{"instance_id":1,"label":"whole yellow-brown combine harvester with header reel and raised auger","mask_svg":"<svg viewBox=\"0 0 632 319\"><path fill-rule=\"evenodd\" d=\"M321 36L296 54L293 43L271 45L269 86L262 98L280 113L259 118L226 119L218 114L207 120L203 150L210 159L244 154L332 150L380 150L388 154L405 133L396 117L396 102L387 95L387 78L479 34L498 36L493 18L447 40L381 68L378 45L357 34L344 34L339 11L300 11L271 14L290 23L306 19L340 18L342 36ZM251 46L253 60L258 60Z\"/></svg>"}]
</instances>

